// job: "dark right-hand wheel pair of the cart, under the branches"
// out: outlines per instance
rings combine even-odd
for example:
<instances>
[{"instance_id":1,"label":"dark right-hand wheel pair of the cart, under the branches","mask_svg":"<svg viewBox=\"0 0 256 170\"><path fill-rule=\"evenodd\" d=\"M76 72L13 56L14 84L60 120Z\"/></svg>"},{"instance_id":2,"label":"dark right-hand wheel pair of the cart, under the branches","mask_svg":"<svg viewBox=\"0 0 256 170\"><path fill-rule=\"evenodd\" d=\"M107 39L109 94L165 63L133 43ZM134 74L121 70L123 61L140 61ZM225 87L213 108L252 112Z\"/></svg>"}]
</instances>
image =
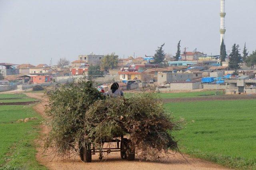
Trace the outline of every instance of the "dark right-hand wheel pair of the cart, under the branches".
<instances>
[{"instance_id":1,"label":"dark right-hand wheel pair of the cart, under the branches","mask_svg":"<svg viewBox=\"0 0 256 170\"><path fill-rule=\"evenodd\" d=\"M121 158L127 160L134 160L135 159L135 150L131 149L129 146L130 140L124 138L121 141ZM128 153L127 153L128 151Z\"/></svg>"}]
</instances>

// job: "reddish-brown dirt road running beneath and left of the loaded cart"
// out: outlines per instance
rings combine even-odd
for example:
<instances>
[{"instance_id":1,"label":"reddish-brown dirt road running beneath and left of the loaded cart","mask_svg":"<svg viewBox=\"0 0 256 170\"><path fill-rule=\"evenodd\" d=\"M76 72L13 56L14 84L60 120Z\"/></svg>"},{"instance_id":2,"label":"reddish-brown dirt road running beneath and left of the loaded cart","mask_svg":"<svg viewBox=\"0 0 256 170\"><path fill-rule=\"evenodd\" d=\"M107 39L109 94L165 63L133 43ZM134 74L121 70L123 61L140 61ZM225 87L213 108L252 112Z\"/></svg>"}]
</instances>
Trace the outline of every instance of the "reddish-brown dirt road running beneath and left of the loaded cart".
<instances>
[{"instance_id":1,"label":"reddish-brown dirt road running beneath and left of the loaded cart","mask_svg":"<svg viewBox=\"0 0 256 170\"><path fill-rule=\"evenodd\" d=\"M42 100L39 104L37 104L34 109L40 113L43 117L46 117L44 114L44 106L47 104L47 99L42 98L43 94L33 94L27 93L27 96L31 98L36 98ZM208 162L205 160L201 160L198 158L190 158L189 156L185 155L184 158L181 154L171 154L170 159L166 162L149 162L149 161L139 161L138 159L134 161L125 161L121 160L119 152L113 152L109 155L105 155L102 161L98 160L98 154L92 155L92 162L91 163L84 163L81 162L78 156L73 156L67 160L61 160L62 158L56 158L53 154L46 154L43 153L43 139L45 138L46 134L48 133L48 129L46 126L42 125L42 132L40 139L36 140L39 144L37 148L38 153L36 154L36 158L38 162L43 164L49 169L96 169L96 170L121 170L121 169L132 169L132 170L197 170L197 169L205 169L205 170L212 170L212 169L226 169L222 166L216 165L212 162Z\"/></svg>"}]
</instances>

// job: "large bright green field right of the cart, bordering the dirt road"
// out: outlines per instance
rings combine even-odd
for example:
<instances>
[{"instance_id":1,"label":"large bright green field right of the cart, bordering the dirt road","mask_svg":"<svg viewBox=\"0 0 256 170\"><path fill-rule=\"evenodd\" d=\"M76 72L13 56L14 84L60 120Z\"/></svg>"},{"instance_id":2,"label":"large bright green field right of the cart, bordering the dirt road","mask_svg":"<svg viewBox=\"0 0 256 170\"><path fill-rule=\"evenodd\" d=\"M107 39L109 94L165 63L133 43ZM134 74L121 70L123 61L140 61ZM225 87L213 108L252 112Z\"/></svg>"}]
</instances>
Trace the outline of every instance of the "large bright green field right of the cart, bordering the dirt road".
<instances>
[{"instance_id":1,"label":"large bright green field right of the cart, bordering the dirt road","mask_svg":"<svg viewBox=\"0 0 256 170\"><path fill-rule=\"evenodd\" d=\"M165 104L185 128L172 135L181 152L231 168L256 169L256 100Z\"/></svg>"}]
</instances>

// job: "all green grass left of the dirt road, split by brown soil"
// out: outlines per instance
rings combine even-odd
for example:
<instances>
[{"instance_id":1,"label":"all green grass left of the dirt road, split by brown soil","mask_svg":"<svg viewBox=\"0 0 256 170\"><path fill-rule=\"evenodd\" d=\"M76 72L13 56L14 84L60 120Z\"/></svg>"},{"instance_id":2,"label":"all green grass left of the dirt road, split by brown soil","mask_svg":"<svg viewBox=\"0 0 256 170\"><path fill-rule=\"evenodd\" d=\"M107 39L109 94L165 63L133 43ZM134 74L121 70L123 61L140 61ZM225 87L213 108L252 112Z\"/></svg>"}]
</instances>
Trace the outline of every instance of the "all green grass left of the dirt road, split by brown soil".
<instances>
[{"instance_id":1,"label":"all green grass left of the dirt road, split by brown soil","mask_svg":"<svg viewBox=\"0 0 256 170\"><path fill-rule=\"evenodd\" d=\"M15 94L16 95L16 94ZM24 95L0 94L0 98L23 98ZM36 161L34 139L42 118L32 106L0 106L0 169L44 169ZM16 123L18 119L38 120Z\"/></svg>"}]
</instances>

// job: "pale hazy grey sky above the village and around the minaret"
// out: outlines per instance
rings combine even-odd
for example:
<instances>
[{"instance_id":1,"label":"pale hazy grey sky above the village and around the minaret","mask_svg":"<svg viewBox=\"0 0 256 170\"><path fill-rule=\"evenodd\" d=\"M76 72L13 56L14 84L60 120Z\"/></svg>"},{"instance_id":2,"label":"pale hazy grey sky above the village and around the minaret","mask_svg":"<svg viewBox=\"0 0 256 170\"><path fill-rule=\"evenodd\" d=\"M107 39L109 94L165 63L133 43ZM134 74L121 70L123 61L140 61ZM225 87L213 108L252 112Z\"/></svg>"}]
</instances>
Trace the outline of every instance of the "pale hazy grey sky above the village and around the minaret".
<instances>
[{"instance_id":1,"label":"pale hazy grey sky above the village and around the minaret","mask_svg":"<svg viewBox=\"0 0 256 170\"><path fill-rule=\"evenodd\" d=\"M226 0L226 48L256 49L256 0ZM53 64L115 52L154 55L165 43L219 54L220 0L0 0L0 63ZM242 49L241 47L241 49Z\"/></svg>"}]
</instances>

